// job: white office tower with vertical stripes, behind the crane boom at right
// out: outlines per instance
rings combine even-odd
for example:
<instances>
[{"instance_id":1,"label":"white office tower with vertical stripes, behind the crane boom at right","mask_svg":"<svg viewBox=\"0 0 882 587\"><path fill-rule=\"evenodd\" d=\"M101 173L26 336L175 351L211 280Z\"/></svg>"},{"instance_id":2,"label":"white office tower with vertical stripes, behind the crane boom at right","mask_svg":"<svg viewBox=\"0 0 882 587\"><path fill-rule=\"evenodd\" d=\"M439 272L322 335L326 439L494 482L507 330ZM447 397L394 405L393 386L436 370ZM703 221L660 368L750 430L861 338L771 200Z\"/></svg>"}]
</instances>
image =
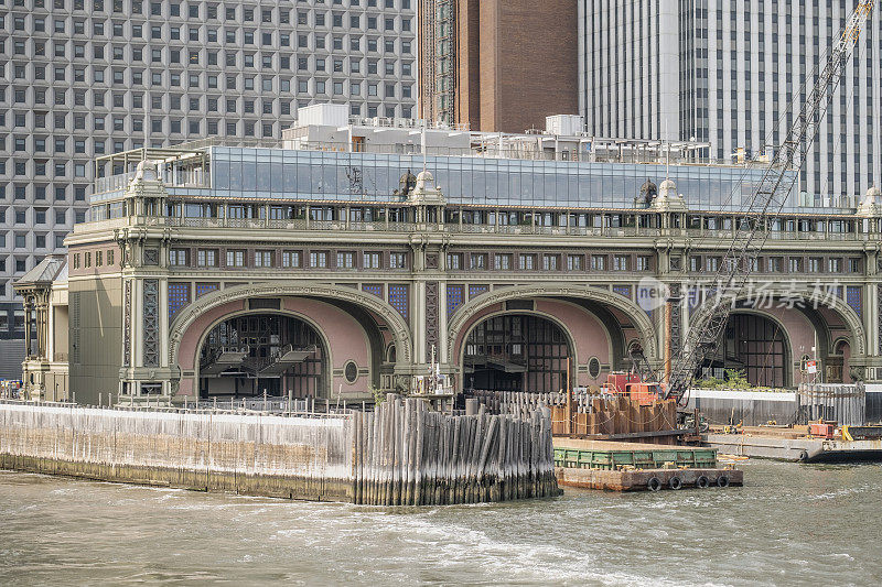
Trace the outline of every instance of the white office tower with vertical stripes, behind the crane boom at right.
<instances>
[{"instance_id":1,"label":"white office tower with vertical stripes, behind the crane boom at right","mask_svg":"<svg viewBox=\"0 0 882 587\"><path fill-rule=\"evenodd\" d=\"M771 154L854 6L580 0L580 109L588 131L708 142L708 157L717 160ZM853 207L882 178L880 23L876 11L805 161L805 205Z\"/></svg>"}]
</instances>

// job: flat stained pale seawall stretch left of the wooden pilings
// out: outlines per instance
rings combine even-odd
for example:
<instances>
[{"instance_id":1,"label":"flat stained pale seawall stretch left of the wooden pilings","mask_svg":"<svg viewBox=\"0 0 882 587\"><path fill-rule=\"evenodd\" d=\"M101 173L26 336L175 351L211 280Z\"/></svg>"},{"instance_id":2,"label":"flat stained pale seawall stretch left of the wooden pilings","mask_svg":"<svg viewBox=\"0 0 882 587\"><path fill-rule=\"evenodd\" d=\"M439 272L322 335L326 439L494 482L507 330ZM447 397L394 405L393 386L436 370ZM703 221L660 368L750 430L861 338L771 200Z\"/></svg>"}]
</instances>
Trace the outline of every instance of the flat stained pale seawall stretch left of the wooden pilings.
<instances>
[{"instance_id":1,"label":"flat stained pale seawall stretch left of the wooden pilings","mask_svg":"<svg viewBox=\"0 0 882 587\"><path fill-rule=\"evenodd\" d=\"M289 499L352 501L345 417L0 405L0 467Z\"/></svg>"}]
</instances>

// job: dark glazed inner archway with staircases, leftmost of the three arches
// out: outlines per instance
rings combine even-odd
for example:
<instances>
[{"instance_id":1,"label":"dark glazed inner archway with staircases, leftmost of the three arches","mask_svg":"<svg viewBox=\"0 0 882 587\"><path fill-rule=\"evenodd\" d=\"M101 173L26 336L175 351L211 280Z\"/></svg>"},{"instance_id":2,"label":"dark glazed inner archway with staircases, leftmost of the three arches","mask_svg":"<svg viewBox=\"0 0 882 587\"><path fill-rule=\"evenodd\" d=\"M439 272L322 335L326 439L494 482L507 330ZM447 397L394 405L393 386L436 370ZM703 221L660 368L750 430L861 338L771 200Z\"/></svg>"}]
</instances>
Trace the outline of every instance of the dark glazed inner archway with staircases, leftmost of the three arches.
<instances>
[{"instance_id":1,"label":"dark glazed inner archway with staircases, leftmost of the three arches","mask_svg":"<svg viewBox=\"0 0 882 587\"><path fill-rule=\"evenodd\" d=\"M324 394L327 349L309 323L284 314L246 314L213 327L200 351L200 396Z\"/></svg>"}]
</instances>

